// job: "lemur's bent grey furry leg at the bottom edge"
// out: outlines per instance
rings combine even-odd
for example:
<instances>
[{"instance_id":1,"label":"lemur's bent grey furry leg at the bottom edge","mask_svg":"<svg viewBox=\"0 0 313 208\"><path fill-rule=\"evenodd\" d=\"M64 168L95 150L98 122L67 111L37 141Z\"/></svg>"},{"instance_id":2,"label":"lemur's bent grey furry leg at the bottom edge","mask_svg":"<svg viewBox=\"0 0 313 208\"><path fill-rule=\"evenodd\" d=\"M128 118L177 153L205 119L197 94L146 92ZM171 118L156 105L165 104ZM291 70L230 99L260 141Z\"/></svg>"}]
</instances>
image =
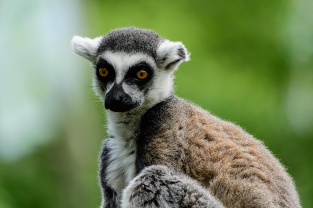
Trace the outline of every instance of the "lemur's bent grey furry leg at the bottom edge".
<instances>
[{"instance_id":1,"label":"lemur's bent grey furry leg at the bottom edge","mask_svg":"<svg viewBox=\"0 0 313 208\"><path fill-rule=\"evenodd\" d=\"M121 208L225 208L189 177L166 166L149 166L123 192Z\"/></svg>"}]
</instances>

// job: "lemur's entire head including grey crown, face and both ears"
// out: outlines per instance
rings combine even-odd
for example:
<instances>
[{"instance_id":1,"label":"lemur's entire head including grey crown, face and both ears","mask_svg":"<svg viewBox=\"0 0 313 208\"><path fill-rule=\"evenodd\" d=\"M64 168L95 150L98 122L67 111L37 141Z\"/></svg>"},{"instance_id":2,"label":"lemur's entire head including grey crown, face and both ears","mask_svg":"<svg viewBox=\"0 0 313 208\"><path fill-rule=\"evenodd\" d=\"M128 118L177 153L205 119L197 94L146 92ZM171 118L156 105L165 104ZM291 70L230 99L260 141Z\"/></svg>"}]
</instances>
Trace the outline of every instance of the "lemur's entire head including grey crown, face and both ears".
<instances>
[{"instance_id":1,"label":"lemur's entire head including grey crown, face and both ears","mask_svg":"<svg viewBox=\"0 0 313 208\"><path fill-rule=\"evenodd\" d=\"M89 39L74 36L74 53L93 65L93 87L106 109L148 108L172 94L172 72L189 54L181 42L152 30L126 27Z\"/></svg>"}]
</instances>

